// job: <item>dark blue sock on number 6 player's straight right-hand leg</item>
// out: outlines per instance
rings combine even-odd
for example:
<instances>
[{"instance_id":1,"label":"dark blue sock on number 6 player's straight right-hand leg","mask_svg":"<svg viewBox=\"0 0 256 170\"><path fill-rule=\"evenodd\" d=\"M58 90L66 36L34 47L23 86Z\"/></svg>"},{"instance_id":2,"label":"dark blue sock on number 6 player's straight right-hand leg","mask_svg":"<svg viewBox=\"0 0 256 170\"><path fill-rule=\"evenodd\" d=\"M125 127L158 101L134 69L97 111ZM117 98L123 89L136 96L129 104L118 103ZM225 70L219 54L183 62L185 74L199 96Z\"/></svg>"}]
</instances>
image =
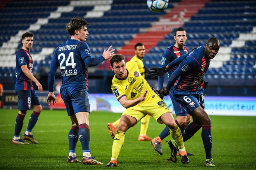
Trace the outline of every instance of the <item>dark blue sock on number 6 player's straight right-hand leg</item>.
<instances>
[{"instance_id":1,"label":"dark blue sock on number 6 player's straight right-hand leg","mask_svg":"<svg viewBox=\"0 0 256 170\"><path fill-rule=\"evenodd\" d=\"M213 141L211 137L211 125L202 125L202 141L204 143L204 150L206 154L206 159L213 158L211 156L211 148L213 146Z\"/></svg>"}]
</instances>

